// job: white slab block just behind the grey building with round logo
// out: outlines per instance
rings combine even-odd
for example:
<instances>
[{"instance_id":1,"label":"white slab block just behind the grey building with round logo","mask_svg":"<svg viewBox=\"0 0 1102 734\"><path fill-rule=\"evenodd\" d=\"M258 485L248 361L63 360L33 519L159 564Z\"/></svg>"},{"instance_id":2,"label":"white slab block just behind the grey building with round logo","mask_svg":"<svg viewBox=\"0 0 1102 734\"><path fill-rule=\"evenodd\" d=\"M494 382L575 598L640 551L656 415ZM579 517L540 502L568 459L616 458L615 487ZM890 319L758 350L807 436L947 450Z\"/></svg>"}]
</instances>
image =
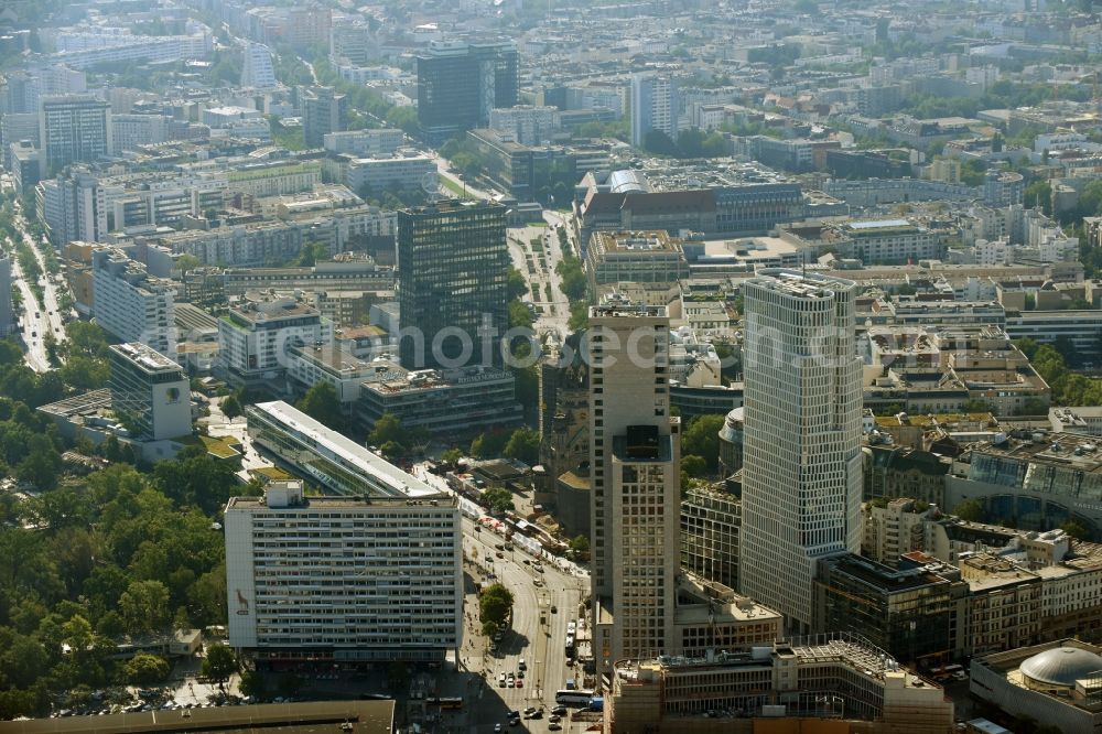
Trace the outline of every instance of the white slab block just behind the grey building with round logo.
<instances>
[{"instance_id":1,"label":"white slab block just behind the grey building with round logo","mask_svg":"<svg viewBox=\"0 0 1102 734\"><path fill-rule=\"evenodd\" d=\"M145 266L114 247L93 252L91 267L96 322L123 342L141 342L175 360L172 283L151 278Z\"/></svg>"}]
</instances>

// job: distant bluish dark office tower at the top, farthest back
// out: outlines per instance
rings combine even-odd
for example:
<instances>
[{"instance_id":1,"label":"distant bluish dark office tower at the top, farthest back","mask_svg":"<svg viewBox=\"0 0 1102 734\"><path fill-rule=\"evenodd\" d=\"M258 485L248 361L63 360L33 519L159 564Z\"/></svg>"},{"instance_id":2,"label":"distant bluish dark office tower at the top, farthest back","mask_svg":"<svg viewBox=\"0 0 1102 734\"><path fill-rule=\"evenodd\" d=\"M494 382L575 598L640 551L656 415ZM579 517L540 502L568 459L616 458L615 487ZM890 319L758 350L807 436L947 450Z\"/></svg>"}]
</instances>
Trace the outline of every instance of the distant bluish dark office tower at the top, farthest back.
<instances>
[{"instance_id":1,"label":"distant bluish dark office tower at the top, farthest back","mask_svg":"<svg viewBox=\"0 0 1102 734\"><path fill-rule=\"evenodd\" d=\"M517 104L511 41L437 42L417 60L418 123L431 144L486 127L495 107Z\"/></svg>"}]
</instances>

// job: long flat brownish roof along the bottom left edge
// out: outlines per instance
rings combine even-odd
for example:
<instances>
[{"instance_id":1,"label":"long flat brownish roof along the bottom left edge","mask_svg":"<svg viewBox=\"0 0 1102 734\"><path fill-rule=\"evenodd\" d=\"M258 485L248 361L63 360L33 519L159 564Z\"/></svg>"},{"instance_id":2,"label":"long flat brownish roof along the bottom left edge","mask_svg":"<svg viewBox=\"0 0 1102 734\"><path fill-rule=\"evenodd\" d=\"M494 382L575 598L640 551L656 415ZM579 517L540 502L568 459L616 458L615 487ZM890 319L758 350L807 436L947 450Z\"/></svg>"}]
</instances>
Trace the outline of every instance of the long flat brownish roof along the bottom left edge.
<instances>
[{"instance_id":1,"label":"long flat brownish roof along the bottom left edge","mask_svg":"<svg viewBox=\"0 0 1102 734\"><path fill-rule=\"evenodd\" d=\"M115 732L129 732L130 734L140 734L141 732L250 734L257 731L279 734L316 734L318 732L390 734L393 730L393 720L395 702L392 700L313 701L8 721L4 722L3 730L10 734L111 734ZM346 722L350 724L350 728L344 726Z\"/></svg>"}]
</instances>

